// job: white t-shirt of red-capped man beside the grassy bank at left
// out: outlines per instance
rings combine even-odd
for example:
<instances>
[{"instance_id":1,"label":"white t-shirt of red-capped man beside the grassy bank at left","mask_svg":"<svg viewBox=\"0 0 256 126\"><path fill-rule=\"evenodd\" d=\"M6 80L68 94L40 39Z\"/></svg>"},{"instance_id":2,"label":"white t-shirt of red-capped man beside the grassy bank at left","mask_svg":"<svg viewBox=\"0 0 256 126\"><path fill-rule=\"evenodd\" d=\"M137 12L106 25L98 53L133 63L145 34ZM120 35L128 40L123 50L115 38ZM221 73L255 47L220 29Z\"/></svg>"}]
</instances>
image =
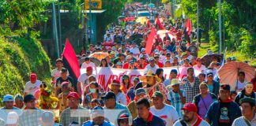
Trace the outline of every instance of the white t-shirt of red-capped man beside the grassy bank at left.
<instances>
[{"instance_id":1,"label":"white t-shirt of red-capped man beside the grassy bank at left","mask_svg":"<svg viewBox=\"0 0 256 126\"><path fill-rule=\"evenodd\" d=\"M40 89L41 83L40 80L36 80L36 83L28 81L24 87L24 92L27 92L30 95L35 95L36 90Z\"/></svg>"}]
</instances>

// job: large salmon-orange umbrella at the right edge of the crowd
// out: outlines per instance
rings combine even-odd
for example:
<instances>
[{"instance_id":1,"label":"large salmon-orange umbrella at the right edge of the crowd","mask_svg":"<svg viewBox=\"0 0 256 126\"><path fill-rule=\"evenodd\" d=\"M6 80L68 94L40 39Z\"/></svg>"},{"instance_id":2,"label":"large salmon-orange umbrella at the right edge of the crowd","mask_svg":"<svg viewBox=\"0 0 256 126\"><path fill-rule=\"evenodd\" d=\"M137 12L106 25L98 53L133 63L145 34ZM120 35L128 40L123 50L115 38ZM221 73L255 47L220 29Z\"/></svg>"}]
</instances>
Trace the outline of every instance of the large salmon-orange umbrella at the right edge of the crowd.
<instances>
[{"instance_id":1,"label":"large salmon-orange umbrella at the right edge of the crowd","mask_svg":"<svg viewBox=\"0 0 256 126\"><path fill-rule=\"evenodd\" d=\"M244 72L245 80L247 81L254 78L253 67L244 62L234 61L223 65L219 69L218 76L220 78L220 83L228 83L232 87L232 90L235 90L238 72Z\"/></svg>"}]
</instances>

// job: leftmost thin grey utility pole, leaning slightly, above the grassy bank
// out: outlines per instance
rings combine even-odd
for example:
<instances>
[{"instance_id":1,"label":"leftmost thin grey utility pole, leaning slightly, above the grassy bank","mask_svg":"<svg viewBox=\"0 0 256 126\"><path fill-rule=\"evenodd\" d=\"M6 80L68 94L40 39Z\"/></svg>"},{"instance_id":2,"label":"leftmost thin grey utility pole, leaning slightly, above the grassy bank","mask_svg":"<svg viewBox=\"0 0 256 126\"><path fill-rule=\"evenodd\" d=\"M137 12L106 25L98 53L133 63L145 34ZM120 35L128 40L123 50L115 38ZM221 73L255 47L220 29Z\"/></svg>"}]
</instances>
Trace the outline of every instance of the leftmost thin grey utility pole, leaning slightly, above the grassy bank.
<instances>
[{"instance_id":1,"label":"leftmost thin grey utility pole, leaning slightly, above the grassy bank","mask_svg":"<svg viewBox=\"0 0 256 126\"><path fill-rule=\"evenodd\" d=\"M56 13L55 13L55 2L52 2L52 14L53 14L53 25L54 25L54 35L55 35L55 45L57 48L57 57L59 57L59 50L58 50L58 30L57 30L57 23L56 23Z\"/></svg>"}]
</instances>

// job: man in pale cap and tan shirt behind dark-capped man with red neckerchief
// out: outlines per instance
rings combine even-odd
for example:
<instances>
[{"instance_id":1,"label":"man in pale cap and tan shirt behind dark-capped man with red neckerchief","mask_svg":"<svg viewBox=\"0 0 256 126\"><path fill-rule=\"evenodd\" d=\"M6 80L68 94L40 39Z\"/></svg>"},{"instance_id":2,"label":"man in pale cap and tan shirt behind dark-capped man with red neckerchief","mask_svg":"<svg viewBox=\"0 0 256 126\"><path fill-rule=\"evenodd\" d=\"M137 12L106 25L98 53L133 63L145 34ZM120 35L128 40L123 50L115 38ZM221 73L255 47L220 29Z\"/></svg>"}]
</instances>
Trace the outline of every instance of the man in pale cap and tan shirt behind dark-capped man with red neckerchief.
<instances>
[{"instance_id":1,"label":"man in pale cap and tan shirt behind dark-capped man with red neckerchief","mask_svg":"<svg viewBox=\"0 0 256 126\"><path fill-rule=\"evenodd\" d=\"M132 117L137 117L137 105L136 102L140 100L141 98L148 98L147 93L144 88L137 88L135 91L135 97L132 102L130 102L127 106L127 108L130 110L130 113L132 113ZM152 106L151 100L149 100L150 106Z\"/></svg>"}]
</instances>

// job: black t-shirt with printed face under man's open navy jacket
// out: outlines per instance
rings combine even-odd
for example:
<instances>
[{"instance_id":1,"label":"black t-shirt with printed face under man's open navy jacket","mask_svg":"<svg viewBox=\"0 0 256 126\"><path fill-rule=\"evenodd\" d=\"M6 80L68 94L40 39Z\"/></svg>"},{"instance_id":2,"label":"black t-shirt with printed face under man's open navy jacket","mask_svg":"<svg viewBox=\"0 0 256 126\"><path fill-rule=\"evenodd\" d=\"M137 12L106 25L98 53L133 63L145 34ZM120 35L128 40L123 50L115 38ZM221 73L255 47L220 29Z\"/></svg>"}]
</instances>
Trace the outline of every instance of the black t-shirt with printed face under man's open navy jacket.
<instances>
[{"instance_id":1,"label":"black t-shirt with printed face under man's open navy jacket","mask_svg":"<svg viewBox=\"0 0 256 126\"><path fill-rule=\"evenodd\" d=\"M228 106L230 102L220 102L220 117L219 126L231 126L232 120L230 119L230 113L228 113Z\"/></svg>"}]
</instances>

